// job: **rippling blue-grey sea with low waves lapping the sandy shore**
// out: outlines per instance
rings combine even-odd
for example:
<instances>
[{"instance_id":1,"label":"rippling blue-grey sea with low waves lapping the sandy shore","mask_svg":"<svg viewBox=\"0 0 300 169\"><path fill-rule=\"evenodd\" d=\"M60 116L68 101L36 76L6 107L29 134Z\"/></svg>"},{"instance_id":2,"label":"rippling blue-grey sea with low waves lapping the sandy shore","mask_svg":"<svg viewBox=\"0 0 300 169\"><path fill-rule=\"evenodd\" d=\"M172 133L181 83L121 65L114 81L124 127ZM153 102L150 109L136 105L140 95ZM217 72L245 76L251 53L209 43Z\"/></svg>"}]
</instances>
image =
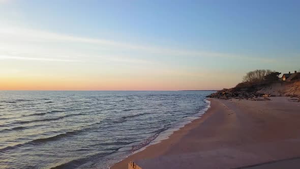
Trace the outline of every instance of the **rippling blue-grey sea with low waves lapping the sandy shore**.
<instances>
[{"instance_id":1,"label":"rippling blue-grey sea with low waves lapping the sandy shore","mask_svg":"<svg viewBox=\"0 0 300 169\"><path fill-rule=\"evenodd\" d=\"M210 93L0 91L0 168L107 168L199 117Z\"/></svg>"}]
</instances>

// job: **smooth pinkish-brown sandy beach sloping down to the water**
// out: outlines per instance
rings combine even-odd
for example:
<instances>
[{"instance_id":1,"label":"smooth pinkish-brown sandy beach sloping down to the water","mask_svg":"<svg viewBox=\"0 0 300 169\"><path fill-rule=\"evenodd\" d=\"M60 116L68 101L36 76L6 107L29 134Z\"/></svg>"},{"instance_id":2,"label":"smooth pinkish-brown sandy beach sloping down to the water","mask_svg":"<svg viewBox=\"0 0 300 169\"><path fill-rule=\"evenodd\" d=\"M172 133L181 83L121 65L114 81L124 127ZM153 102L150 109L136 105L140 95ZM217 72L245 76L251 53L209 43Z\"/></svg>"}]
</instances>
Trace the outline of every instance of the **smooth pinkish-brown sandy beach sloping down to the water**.
<instances>
[{"instance_id":1,"label":"smooth pinkish-brown sandy beach sloping down to the water","mask_svg":"<svg viewBox=\"0 0 300 169\"><path fill-rule=\"evenodd\" d=\"M200 119L110 168L127 168L129 161L142 168L299 166L300 103L271 99L209 99L211 108Z\"/></svg>"}]
</instances>

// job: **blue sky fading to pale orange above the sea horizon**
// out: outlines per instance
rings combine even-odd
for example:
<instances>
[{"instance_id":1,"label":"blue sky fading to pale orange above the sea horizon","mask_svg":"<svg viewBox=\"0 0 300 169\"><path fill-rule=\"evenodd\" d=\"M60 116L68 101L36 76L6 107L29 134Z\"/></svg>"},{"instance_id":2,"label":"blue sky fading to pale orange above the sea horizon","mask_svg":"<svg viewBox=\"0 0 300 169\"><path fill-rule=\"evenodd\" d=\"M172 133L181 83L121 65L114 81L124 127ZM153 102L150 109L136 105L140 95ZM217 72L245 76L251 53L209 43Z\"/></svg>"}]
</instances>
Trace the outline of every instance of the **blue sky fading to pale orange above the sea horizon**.
<instances>
[{"instance_id":1,"label":"blue sky fading to pale orange above the sea horizon","mask_svg":"<svg viewBox=\"0 0 300 169\"><path fill-rule=\"evenodd\" d=\"M0 90L218 90L300 69L300 1L0 0Z\"/></svg>"}]
</instances>

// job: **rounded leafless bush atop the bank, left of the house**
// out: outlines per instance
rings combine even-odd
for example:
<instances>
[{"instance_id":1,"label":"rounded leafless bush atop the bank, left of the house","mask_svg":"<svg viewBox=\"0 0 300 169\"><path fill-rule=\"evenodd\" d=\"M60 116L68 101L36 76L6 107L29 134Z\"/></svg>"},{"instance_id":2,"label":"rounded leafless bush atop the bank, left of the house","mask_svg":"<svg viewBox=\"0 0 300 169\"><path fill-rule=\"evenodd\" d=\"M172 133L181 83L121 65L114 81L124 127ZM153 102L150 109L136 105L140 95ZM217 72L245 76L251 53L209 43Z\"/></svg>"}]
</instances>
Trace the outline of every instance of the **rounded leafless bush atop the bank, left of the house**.
<instances>
[{"instance_id":1,"label":"rounded leafless bush atop the bank, left of the house","mask_svg":"<svg viewBox=\"0 0 300 169\"><path fill-rule=\"evenodd\" d=\"M243 82L246 82L249 84L262 82L264 80L264 76L266 76L272 72L273 71L268 70L268 69L267 70L259 69L259 70L250 71L244 76Z\"/></svg>"}]
</instances>

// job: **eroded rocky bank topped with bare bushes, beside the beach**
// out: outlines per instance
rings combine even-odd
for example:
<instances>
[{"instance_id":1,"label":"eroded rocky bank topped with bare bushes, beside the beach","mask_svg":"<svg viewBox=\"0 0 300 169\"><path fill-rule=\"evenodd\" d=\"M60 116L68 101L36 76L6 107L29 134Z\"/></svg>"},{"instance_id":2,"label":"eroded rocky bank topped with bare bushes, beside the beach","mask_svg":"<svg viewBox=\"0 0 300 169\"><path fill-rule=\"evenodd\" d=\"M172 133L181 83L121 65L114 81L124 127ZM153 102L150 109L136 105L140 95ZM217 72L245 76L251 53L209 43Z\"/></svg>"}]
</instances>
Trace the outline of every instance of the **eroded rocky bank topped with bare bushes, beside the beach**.
<instances>
[{"instance_id":1,"label":"eroded rocky bank topped with bare bushes, beside the beach","mask_svg":"<svg viewBox=\"0 0 300 169\"><path fill-rule=\"evenodd\" d=\"M218 99L269 100L267 97L296 97L300 102L300 73L281 73L271 70L250 71L234 88L223 89L207 97ZM261 98L259 98L261 97Z\"/></svg>"}]
</instances>

